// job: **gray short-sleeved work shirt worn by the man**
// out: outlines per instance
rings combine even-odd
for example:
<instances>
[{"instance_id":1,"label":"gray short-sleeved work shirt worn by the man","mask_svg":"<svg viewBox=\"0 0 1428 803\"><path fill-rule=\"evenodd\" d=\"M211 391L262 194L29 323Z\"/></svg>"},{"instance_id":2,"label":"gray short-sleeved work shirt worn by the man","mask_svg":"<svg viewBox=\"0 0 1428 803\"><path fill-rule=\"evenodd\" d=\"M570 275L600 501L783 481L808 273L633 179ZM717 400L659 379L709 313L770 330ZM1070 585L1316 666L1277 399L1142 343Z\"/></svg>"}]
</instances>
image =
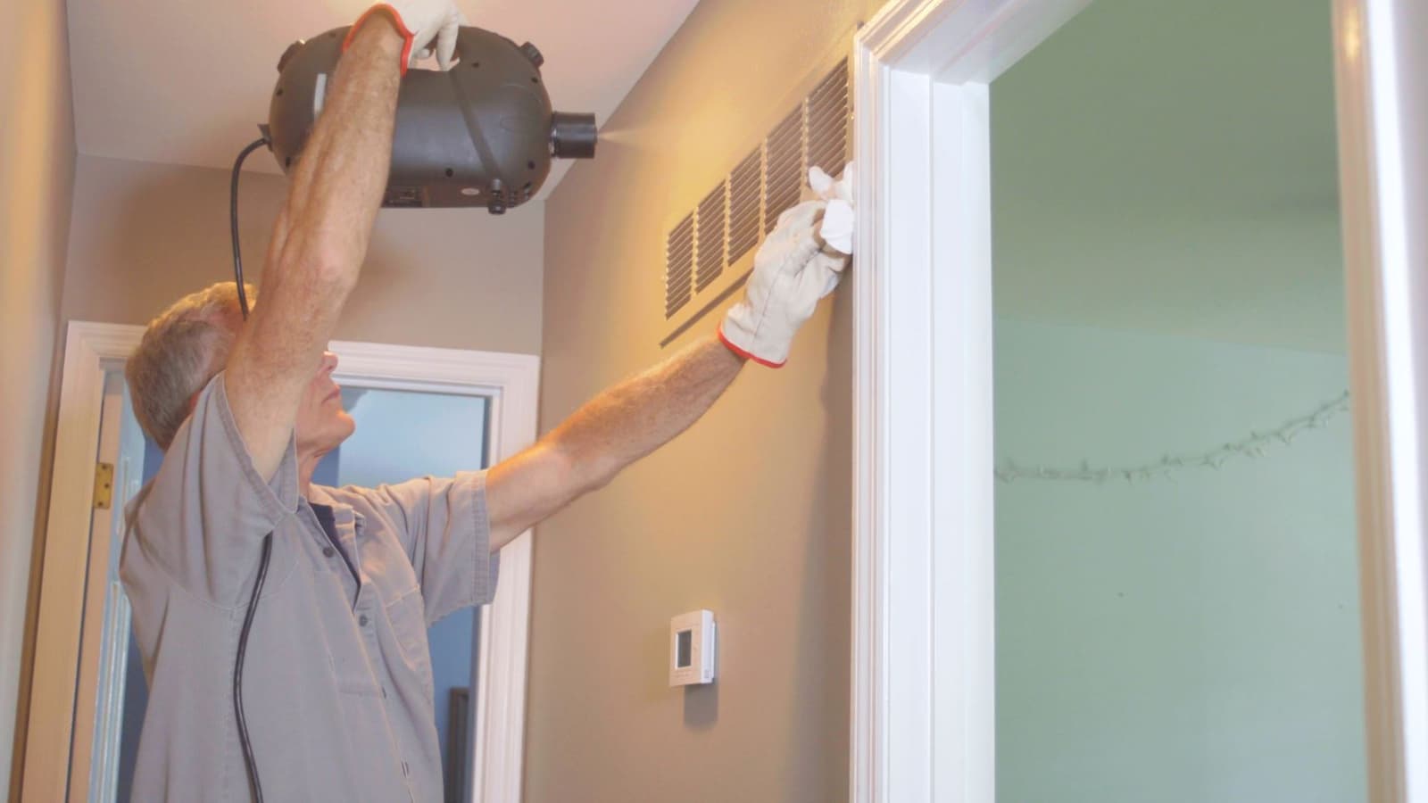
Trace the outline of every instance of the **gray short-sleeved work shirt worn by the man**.
<instances>
[{"instance_id":1,"label":"gray short-sleeved work shirt worn by the man","mask_svg":"<svg viewBox=\"0 0 1428 803\"><path fill-rule=\"evenodd\" d=\"M441 800L427 626L496 590L484 483L313 486L333 539L293 442L263 482L214 377L129 507L120 577L150 689L133 799L250 799L233 667L273 533L243 672L264 799Z\"/></svg>"}]
</instances>

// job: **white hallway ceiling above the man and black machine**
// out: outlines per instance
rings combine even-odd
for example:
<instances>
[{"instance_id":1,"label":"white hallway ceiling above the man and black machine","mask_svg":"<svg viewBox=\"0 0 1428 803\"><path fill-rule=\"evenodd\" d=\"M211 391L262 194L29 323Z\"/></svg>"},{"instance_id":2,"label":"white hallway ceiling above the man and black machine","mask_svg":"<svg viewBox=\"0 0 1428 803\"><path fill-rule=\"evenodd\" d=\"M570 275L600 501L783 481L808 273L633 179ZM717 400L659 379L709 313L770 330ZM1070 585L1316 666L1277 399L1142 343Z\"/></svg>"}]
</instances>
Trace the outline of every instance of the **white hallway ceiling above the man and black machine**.
<instances>
[{"instance_id":1,"label":"white hallway ceiling above the man and black machine","mask_svg":"<svg viewBox=\"0 0 1428 803\"><path fill-rule=\"evenodd\" d=\"M561 111L600 123L697 0L458 0L471 24L545 56ZM79 151L231 167L266 121L277 60L297 39L348 24L368 0L70 0L70 63ZM251 169L277 173L271 159ZM568 161L557 161L541 196ZM246 166L247 169L247 166Z\"/></svg>"}]
</instances>

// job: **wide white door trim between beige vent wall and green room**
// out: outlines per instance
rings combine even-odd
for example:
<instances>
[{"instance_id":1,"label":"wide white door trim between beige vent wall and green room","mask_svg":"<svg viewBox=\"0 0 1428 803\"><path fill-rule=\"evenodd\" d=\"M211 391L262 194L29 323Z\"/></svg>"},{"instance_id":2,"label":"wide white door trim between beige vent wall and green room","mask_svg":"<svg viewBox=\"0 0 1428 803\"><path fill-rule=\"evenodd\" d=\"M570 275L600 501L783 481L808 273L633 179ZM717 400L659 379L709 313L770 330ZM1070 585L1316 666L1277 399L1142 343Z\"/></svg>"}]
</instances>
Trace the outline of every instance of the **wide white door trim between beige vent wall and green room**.
<instances>
[{"instance_id":1,"label":"wide white door trim between beige vent wall and green room","mask_svg":"<svg viewBox=\"0 0 1428 803\"><path fill-rule=\"evenodd\" d=\"M1088 0L892 0L854 41L855 803L995 799L987 83Z\"/></svg>"}]
</instances>

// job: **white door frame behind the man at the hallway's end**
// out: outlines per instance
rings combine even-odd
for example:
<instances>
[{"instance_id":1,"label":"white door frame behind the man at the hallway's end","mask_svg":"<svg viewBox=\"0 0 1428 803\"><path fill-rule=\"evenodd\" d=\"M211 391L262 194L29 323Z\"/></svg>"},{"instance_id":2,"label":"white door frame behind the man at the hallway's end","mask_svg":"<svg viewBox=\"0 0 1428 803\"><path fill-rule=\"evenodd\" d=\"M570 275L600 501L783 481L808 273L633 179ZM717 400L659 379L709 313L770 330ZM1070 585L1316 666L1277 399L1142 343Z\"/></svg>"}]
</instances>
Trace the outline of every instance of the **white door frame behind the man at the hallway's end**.
<instances>
[{"instance_id":1,"label":"white door frame behind the man at the hallway's end","mask_svg":"<svg viewBox=\"0 0 1428 803\"><path fill-rule=\"evenodd\" d=\"M100 437L104 374L139 346L143 327L71 321L66 336L56 429L54 472L46 527L30 716L24 733L20 800L64 800L70 783L74 689L83 629L84 574L90 554L94 454ZM536 440L540 359L457 349L424 349L334 340L340 381L491 399L493 462ZM477 653L474 803L514 803L521 792L526 727L526 659L530 629L531 534L501 550L496 600L481 610ZM83 783L83 779L76 779Z\"/></svg>"}]
</instances>

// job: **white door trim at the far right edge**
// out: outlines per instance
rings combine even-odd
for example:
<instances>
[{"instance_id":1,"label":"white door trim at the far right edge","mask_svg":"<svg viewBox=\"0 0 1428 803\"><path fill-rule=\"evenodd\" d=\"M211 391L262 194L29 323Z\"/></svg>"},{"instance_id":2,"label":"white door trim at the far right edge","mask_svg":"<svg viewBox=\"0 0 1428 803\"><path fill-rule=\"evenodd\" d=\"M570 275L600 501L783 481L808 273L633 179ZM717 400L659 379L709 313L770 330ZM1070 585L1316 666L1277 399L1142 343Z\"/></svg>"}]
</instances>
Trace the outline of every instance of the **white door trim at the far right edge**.
<instances>
[{"instance_id":1,"label":"white door trim at the far right edge","mask_svg":"<svg viewBox=\"0 0 1428 803\"><path fill-rule=\"evenodd\" d=\"M1368 799L1388 803L1428 802L1424 26L1428 0L1334 3Z\"/></svg>"}]
</instances>

